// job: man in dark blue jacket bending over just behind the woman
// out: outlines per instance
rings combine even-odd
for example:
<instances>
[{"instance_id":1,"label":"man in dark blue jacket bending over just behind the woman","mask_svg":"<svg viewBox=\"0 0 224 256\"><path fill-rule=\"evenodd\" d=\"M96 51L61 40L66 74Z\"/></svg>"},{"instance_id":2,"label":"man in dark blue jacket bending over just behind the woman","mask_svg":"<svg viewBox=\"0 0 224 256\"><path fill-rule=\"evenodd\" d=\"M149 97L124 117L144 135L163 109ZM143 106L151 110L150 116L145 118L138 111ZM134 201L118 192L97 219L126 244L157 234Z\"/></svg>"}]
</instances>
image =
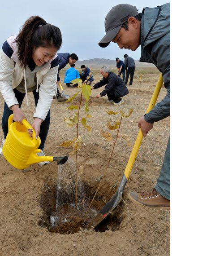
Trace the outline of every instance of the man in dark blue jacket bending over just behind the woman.
<instances>
[{"instance_id":1,"label":"man in dark blue jacket bending over just behind the woman","mask_svg":"<svg viewBox=\"0 0 224 256\"><path fill-rule=\"evenodd\" d=\"M61 69L63 69L67 64L70 66L74 64L76 61L78 61L78 56L75 53L58 53L58 60L59 60L59 67L58 67L58 74L57 74L57 83L60 83L60 76L59 72ZM57 98L58 102L65 102L67 101L67 98L61 94L57 88Z\"/></svg>"}]
</instances>

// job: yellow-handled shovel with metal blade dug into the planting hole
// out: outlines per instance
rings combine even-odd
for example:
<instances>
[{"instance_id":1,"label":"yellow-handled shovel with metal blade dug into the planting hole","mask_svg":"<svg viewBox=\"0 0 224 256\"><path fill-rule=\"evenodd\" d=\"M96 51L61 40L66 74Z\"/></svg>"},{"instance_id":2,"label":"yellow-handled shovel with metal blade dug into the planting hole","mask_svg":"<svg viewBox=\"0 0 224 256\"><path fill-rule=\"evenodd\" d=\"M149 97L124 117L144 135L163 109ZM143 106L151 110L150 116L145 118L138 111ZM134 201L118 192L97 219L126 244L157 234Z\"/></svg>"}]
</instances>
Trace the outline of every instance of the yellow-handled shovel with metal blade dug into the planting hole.
<instances>
[{"instance_id":1,"label":"yellow-handled shovel with metal blade dug into the planting hole","mask_svg":"<svg viewBox=\"0 0 224 256\"><path fill-rule=\"evenodd\" d=\"M160 74L159 80L156 84L154 93L151 97L151 101L149 103L146 113L148 113L150 110L152 110L153 107L155 106L155 102L158 98L158 95L159 95L162 85L163 85L163 78L162 78L162 74ZM95 220L93 221L94 226L99 225L99 223L101 221L103 221L103 219L106 218L108 216L108 214L110 214L113 211L113 209L121 202L123 190L128 181L129 174L131 172L132 166L134 164L134 160L138 153L139 146L142 142L142 138L143 138L142 130L140 129L138 132L138 137L134 143L133 150L130 154L128 163L126 165L125 172L123 173L123 177L121 178L121 182L119 184L118 190L117 190L116 194L112 197L112 199L110 199L110 201L108 203L106 203L103 206L103 208L99 211L98 215L95 217Z\"/></svg>"}]
</instances>

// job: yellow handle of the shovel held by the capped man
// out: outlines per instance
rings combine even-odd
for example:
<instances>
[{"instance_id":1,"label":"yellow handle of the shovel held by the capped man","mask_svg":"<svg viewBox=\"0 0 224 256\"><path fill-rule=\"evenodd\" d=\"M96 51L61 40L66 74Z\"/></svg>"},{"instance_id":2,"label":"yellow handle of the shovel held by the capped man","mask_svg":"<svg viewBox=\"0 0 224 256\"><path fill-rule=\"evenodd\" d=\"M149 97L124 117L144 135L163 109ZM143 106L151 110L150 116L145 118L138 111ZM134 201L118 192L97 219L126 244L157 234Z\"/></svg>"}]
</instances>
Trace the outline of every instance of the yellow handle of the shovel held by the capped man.
<instances>
[{"instance_id":1,"label":"yellow handle of the shovel held by the capped man","mask_svg":"<svg viewBox=\"0 0 224 256\"><path fill-rule=\"evenodd\" d=\"M148 106L148 109L147 109L146 113L148 113L150 110L152 110L153 107L155 106L155 103L156 103L156 100L157 100L157 98L159 96L159 92L160 92L160 89L161 89L161 87L163 85L163 82L164 82L164 80L163 80L162 74L160 74L159 80L158 80L158 82L156 84L154 93L152 94L151 101L149 103L149 106ZM127 179L129 178L129 174L131 172L132 166L134 164L134 160L135 160L136 155L138 153L138 149L139 149L139 147L141 145L142 138L143 138L142 130L140 129L139 132L138 132L137 139L136 139L136 141L134 143L134 147L133 147L133 149L131 151L128 163L127 163L126 168L125 168L124 174L125 174L125 177Z\"/></svg>"}]
</instances>

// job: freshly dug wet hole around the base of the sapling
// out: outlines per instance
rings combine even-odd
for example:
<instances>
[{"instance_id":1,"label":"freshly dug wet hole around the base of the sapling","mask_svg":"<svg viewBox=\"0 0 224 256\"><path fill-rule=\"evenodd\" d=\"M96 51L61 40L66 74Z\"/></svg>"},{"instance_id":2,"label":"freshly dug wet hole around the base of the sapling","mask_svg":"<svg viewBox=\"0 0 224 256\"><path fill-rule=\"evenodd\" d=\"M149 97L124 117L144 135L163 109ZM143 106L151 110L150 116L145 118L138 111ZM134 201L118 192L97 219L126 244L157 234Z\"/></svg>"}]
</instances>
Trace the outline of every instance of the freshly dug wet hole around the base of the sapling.
<instances>
[{"instance_id":1,"label":"freshly dug wet hole around the base of the sapling","mask_svg":"<svg viewBox=\"0 0 224 256\"><path fill-rule=\"evenodd\" d=\"M87 181L82 181L85 190L85 197L82 202L78 203L76 209L75 202L65 202L63 205L57 207L56 211L56 184L49 185L45 183L44 192L40 199L40 207L43 209L43 216L39 221L39 225L47 228L50 232L60 234L74 234L81 230L95 230L96 232L104 232L108 229L116 231L123 217L119 212L116 214L109 214L99 225L91 227L90 223L94 220L99 210L111 199L116 192L110 184L104 182L98 191L94 202L92 203L89 212L86 214L91 199L99 183L90 185ZM121 212L121 211L120 211ZM86 217L84 218L86 214Z\"/></svg>"}]
</instances>

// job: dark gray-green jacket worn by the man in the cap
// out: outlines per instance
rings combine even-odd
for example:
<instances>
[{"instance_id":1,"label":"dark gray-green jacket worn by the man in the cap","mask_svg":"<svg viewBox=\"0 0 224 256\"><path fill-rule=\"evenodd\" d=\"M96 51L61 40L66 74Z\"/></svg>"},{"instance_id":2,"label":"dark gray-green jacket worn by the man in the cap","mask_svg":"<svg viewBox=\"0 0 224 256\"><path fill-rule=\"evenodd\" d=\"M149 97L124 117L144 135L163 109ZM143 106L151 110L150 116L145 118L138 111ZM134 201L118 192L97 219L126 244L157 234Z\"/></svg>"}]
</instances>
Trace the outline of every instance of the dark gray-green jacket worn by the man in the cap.
<instances>
[{"instance_id":1,"label":"dark gray-green jacket worn by the man in the cap","mask_svg":"<svg viewBox=\"0 0 224 256\"><path fill-rule=\"evenodd\" d=\"M170 115L170 3L144 8L141 19L140 62L151 62L162 73L166 97L144 116L154 123Z\"/></svg>"}]
</instances>

